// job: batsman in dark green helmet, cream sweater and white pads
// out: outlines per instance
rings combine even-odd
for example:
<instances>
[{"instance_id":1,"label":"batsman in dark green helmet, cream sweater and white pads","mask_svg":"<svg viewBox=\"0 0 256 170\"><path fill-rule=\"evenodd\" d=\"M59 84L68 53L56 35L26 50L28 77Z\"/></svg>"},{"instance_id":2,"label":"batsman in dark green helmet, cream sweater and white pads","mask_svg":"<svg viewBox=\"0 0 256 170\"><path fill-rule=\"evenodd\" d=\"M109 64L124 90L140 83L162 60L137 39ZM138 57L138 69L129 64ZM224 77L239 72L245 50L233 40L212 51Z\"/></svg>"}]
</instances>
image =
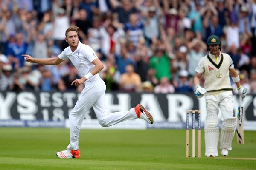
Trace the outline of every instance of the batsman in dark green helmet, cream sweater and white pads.
<instances>
[{"instance_id":1,"label":"batsman in dark green helmet, cream sweater and white pads","mask_svg":"<svg viewBox=\"0 0 256 170\"><path fill-rule=\"evenodd\" d=\"M218 156L218 148L223 156L232 150L231 143L236 129L236 116L233 111L232 87L229 75L236 83L239 95L244 98L247 89L240 84L239 76L233 61L228 54L221 53L219 37L212 35L207 39L209 54L201 58L195 68L195 95L205 96L207 116L204 123L205 156ZM201 76L204 75L204 88L200 86ZM219 109L222 113L222 129L219 140ZM218 144L219 142L219 144Z\"/></svg>"}]
</instances>

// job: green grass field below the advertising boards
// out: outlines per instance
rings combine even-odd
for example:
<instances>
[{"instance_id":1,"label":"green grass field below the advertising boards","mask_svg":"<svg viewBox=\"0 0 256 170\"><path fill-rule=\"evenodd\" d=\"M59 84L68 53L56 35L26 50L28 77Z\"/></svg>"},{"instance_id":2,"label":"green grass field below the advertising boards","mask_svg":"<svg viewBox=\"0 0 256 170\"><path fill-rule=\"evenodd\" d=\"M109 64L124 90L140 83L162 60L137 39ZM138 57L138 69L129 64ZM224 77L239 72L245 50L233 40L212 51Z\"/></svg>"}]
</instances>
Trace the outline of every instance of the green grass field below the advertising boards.
<instances>
[{"instance_id":1,"label":"green grass field below the advertising boards","mask_svg":"<svg viewBox=\"0 0 256 170\"><path fill-rule=\"evenodd\" d=\"M218 158L204 156L203 130L201 158L185 158L185 130L82 129L81 157L59 159L68 143L69 129L1 127L0 170L256 170L256 131Z\"/></svg>"}]
</instances>

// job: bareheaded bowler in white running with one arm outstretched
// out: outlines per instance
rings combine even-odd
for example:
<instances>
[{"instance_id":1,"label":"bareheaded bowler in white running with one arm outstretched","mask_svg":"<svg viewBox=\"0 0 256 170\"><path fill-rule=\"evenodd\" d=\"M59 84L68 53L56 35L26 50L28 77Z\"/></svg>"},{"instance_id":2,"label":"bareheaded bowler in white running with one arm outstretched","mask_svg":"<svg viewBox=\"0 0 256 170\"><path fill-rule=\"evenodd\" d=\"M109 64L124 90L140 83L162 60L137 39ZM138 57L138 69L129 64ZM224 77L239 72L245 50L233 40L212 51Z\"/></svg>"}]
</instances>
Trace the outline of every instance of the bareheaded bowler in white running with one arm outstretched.
<instances>
[{"instance_id":1,"label":"bareheaded bowler in white running with one arm outstretched","mask_svg":"<svg viewBox=\"0 0 256 170\"><path fill-rule=\"evenodd\" d=\"M99 71L103 69L103 64L96 56L95 51L78 40L78 30L76 26L70 26L66 30L65 40L69 47L65 48L62 53L55 58L38 59L29 55L23 55L26 62L58 65L66 59L70 59L73 65L78 70L81 79L76 79L71 85L81 85L84 83L85 88L81 92L75 107L69 114L70 120L70 144L66 150L57 152L59 158L79 158L79 131L81 123L83 122L85 113L93 107L99 124L103 127L115 125L116 123L125 120L141 118L149 124L154 122L151 114L145 108L138 104L135 108L129 111L108 113L108 108L105 104L105 82L99 77Z\"/></svg>"}]
</instances>

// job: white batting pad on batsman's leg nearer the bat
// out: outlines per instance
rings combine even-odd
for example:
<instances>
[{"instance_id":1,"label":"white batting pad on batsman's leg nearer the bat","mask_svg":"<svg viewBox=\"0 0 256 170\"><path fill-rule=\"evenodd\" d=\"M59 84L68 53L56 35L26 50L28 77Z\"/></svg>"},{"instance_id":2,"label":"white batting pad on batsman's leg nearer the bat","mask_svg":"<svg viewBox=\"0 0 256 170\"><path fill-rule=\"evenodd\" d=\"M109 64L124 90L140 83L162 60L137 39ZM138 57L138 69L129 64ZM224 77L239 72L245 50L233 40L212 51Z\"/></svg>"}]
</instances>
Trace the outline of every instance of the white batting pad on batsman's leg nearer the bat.
<instances>
[{"instance_id":1,"label":"white batting pad on batsman's leg nearer the bat","mask_svg":"<svg viewBox=\"0 0 256 170\"><path fill-rule=\"evenodd\" d=\"M236 130L236 117L227 118L222 123L219 148L232 150L231 143Z\"/></svg>"}]
</instances>

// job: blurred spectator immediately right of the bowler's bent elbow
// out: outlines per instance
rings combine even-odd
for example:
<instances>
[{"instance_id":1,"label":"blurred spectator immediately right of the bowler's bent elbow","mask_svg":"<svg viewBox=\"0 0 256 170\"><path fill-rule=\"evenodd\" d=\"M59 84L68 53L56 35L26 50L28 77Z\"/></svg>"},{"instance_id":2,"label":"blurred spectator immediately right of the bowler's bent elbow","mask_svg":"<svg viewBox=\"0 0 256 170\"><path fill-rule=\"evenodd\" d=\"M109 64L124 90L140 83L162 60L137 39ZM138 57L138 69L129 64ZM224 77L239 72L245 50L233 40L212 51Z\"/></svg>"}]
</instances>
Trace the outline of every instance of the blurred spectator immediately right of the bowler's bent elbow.
<instances>
[{"instance_id":1,"label":"blurred spectator immediately right of the bowler's bent elbow","mask_svg":"<svg viewBox=\"0 0 256 170\"><path fill-rule=\"evenodd\" d=\"M120 72L110 59L105 60L105 68L104 71L101 72L101 77L106 84L106 91L119 90Z\"/></svg>"}]
</instances>

